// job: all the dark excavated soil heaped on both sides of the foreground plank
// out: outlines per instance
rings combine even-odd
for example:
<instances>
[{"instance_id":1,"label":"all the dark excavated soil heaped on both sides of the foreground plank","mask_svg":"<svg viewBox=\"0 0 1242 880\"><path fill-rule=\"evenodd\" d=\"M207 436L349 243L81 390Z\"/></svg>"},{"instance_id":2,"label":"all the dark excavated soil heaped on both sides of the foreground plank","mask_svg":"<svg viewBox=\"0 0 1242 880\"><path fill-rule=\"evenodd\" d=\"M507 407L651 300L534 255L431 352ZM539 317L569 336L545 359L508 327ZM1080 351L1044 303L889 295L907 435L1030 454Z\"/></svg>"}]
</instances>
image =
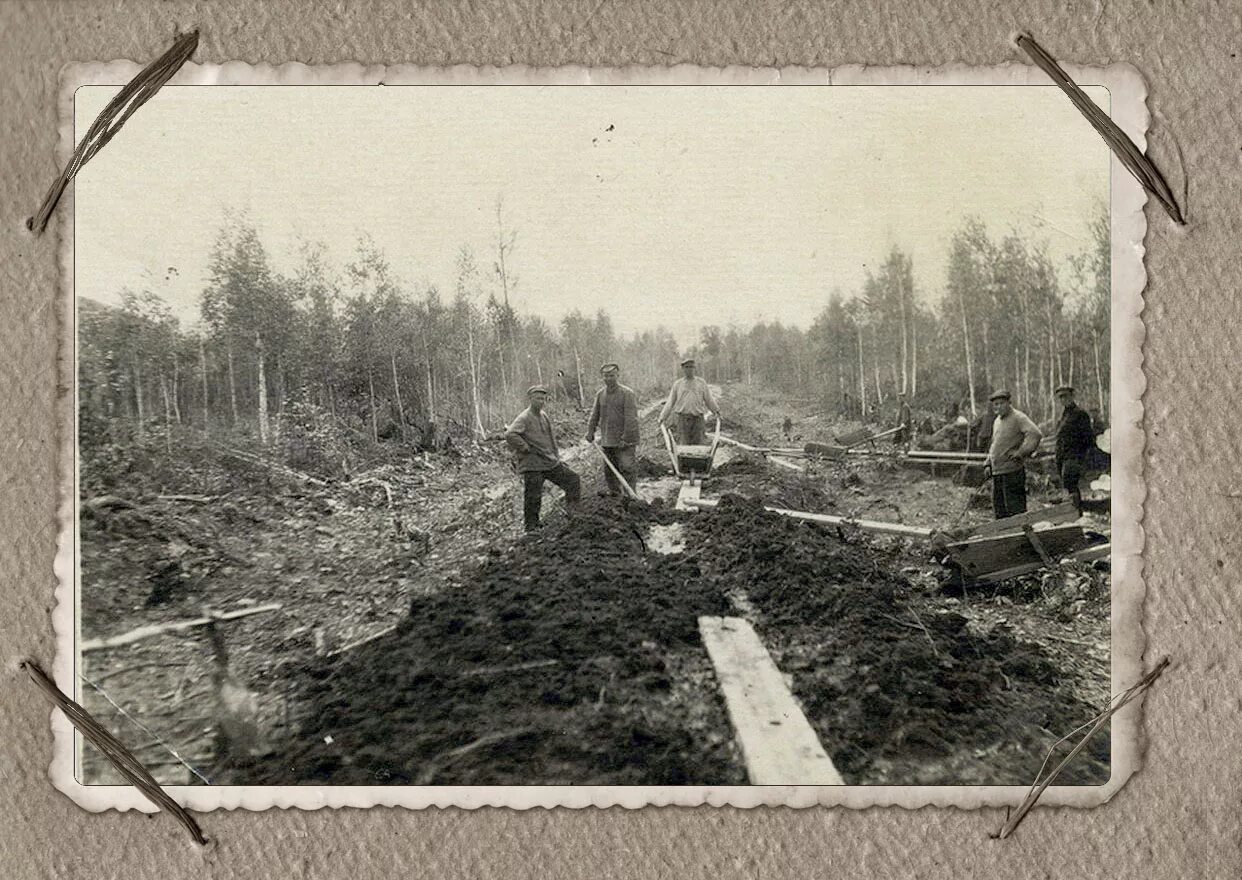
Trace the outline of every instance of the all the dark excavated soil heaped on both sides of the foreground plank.
<instances>
[{"instance_id":1,"label":"all the dark excavated soil heaped on both sides of the foreground plank","mask_svg":"<svg viewBox=\"0 0 1242 880\"><path fill-rule=\"evenodd\" d=\"M673 521L686 551L648 550L645 526ZM847 782L1030 782L1094 711L1038 647L933 607L899 555L739 496L592 501L310 664L296 745L246 781L741 783L697 618L744 607ZM1107 779L1098 742L1067 783Z\"/></svg>"}]
</instances>

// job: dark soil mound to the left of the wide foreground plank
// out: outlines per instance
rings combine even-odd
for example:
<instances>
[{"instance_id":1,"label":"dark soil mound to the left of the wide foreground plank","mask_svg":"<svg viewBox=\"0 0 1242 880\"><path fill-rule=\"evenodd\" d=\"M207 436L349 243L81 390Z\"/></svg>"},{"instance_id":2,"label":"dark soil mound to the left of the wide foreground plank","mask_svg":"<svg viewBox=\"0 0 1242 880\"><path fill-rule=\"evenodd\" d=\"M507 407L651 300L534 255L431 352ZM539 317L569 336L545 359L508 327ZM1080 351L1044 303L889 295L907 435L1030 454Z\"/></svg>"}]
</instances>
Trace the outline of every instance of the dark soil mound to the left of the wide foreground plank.
<instances>
[{"instance_id":1,"label":"dark soil mound to the left of the wide foreground plank","mask_svg":"<svg viewBox=\"0 0 1242 880\"><path fill-rule=\"evenodd\" d=\"M247 779L744 781L714 683L700 721L683 706L697 618L729 603L692 556L646 551L642 524L672 515L590 503L415 601L396 632L313 664L298 745Z\"/></svg>"}]
</instances>

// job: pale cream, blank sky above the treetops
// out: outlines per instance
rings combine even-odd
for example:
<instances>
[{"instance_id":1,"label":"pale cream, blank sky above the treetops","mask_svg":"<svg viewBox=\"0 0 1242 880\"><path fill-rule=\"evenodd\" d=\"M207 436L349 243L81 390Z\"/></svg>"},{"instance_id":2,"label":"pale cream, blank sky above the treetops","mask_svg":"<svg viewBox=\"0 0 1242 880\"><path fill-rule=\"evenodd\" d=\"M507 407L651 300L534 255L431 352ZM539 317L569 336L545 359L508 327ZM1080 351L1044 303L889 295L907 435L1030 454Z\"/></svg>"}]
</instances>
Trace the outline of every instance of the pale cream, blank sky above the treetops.
<instances>
[{"instance_id":1,"label":"pale cream, blank sky above the treetops","mask_svg":"<svg viewBox=\"0 0 1242 880\"><path fill-rule=\"evenodd\" d=\"M78 137L116 91L78 89ZM971 215L1061 263L1089 247L1108 173L1052 86L166 87L77 176L76 284L149 287L193 323L216 232L245 211L277 269L301 241L344 263L369 233L451 294L462 245L491 266L503 196L518 309L604 307L623 333L689 341L807 326L894 245L935 300Z\"/></svg>"}]
</instances>

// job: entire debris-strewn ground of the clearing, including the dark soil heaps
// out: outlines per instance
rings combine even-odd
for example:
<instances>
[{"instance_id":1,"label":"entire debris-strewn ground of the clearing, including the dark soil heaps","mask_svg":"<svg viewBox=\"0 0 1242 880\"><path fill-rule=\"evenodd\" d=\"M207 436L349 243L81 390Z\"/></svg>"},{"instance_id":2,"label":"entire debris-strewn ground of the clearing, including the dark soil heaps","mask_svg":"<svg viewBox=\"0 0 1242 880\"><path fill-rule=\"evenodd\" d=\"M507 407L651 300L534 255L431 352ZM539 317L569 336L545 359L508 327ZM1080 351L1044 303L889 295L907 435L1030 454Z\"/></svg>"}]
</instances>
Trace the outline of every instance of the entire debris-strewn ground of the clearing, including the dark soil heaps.
<instances>
[{"instance_id":1,"label":"entire debris-strewn ground of the clearing, including the dark soil heaps","mask_svg":"<svg viewBox=\"0 0 1242 880\"><path fill-rule=\"evenodd\" d=\"M746 442L785 444L785 410L804 431L812 421L748 388L724 398L727 432ZM831 438L815 429L805 439ZM674 511L648 410L653 503L595 498L599 464L579 447L584 511L566 518L550 492L546 528L523 539L494 448L328 487L197 452L191 469L140 468L158 479L116 490L133 508L82 529L84 637L282 603L225 629L229 675L258 721L229 760L201 631L86 657L144 730L86 686L88 707L166 781L194 781L190 765L270 784L741 783L702 614L751 619L851 783L1025 784L1108 698L1107 572L953 596L914 542L746 500L929 526L986 518L969 488L886 460L795 472L729 452L704 485L720 506ZM1068 782L1107 779L1100 743ZM89 756L87 768L111 778Z\"/></svg>"}]
</instances>

